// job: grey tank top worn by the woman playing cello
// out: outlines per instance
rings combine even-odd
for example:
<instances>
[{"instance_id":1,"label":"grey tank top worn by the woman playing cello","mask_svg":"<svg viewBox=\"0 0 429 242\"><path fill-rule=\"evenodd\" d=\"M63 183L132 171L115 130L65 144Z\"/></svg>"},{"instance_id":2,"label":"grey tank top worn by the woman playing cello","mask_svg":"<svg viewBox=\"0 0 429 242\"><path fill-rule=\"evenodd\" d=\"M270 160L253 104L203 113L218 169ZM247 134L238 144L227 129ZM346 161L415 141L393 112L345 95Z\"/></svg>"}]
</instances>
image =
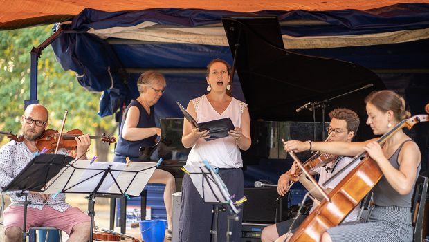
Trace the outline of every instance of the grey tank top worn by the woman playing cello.
<instances>
[{"instance_id":1,"label":"grey tank top worn by the woman playing cello","mask_svg":"<svg viewBox=\"0 0 429 242\"><path fill-rule=\"evenodd\" d=\"M399 152L402 149L403 144L405 142L412 141L412 140L405 140L401 146L395 151L395 153L389 158L390 164L395 167L396 169L399 169L398 164L398 157ZM420 173L420 165L417 167L417 177ZM415 185L414 180L414 185ZM413 185L413 187L414 187ZM408 194L401 195L398 192L396 192L393 187L387 182L387 179L385 176L381 178L381 180L377 183L377 185L372 189L374 192L374 203L378 206L399 206L399 207L411 207L411 198L412 193L414 192L414 189L411 189L411 191Z\"/></svg>"}]
</instances>

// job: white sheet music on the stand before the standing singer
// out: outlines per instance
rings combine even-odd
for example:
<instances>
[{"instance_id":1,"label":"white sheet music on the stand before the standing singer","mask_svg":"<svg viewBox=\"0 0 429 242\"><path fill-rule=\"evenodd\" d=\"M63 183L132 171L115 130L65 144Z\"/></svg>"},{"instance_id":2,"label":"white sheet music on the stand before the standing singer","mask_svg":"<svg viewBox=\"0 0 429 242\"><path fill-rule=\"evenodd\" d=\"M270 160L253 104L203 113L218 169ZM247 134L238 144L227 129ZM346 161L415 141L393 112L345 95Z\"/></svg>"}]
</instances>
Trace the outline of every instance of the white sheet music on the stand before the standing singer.
<instances>
[{"instance_id":1,"label":"white sheet music on the stand before the standing singer","mask_svg":"<svg viewBox=\"0 0 429 242\"><path fill-rule=\"evenodd\" d=\"M192 183L197 188L201 198L208 203L225 203L219 187L216 185L210 171L203 165L202 162L193 162L192 165L185 165L185 169L190 173ZM194 174L198 173L198 174ZM204 179L203 174L204 173ZM219 200L218 200L219 198Z\"/></svg>"}]
</instances>

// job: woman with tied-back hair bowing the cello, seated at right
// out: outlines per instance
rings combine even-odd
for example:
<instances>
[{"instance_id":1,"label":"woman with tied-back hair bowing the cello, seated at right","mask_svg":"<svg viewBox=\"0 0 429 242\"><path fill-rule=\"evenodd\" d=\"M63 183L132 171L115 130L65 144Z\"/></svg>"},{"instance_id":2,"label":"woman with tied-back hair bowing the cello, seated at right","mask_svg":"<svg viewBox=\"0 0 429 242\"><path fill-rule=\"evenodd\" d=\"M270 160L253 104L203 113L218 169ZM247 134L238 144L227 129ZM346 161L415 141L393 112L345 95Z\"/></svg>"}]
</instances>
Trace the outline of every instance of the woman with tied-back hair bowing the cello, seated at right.
<instances>
[{"instance_id":1,"label":"woman with tied-back hair bowing the cello, seated at right","mask_svg":"<svg viewBox=\"0 0 429 242\"><path fill-rule=\"evenodd\" d=\"M408 118L405 101L392 91L371 93L365 99L367 124L375 135L383 135ZM331 227L321 241L412 241L411 197L420 171L417 144L400 129L381 147L376 139L365 142L312 142L311 149L344 156L367 151L380 167L383 177L375 185L374 210L367 223ZM286 151L310 149L308 142L284 142Z\"/></svg>"}]
</instances>

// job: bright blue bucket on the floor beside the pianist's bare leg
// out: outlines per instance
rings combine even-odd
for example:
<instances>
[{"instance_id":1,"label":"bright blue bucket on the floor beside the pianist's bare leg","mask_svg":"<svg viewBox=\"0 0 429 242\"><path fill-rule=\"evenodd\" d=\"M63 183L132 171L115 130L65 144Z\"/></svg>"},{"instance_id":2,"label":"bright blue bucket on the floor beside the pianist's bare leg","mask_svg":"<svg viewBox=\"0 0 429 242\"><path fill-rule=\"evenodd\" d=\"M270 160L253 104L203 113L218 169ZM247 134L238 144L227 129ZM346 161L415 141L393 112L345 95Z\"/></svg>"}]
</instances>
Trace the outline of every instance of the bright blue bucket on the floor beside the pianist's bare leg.
<instances>
[{"instance_id":1,"label":"bright blue bucket on the floor beside the pianist's bare leg","mask_svg":"<svg viewBox=\"0 0 429 242\"><path fill-rule=\"evenodd\" d=\"M145 242L163 242L165 235L165 219L140 220L140 232Z\"/></svg>"}]
</instances>

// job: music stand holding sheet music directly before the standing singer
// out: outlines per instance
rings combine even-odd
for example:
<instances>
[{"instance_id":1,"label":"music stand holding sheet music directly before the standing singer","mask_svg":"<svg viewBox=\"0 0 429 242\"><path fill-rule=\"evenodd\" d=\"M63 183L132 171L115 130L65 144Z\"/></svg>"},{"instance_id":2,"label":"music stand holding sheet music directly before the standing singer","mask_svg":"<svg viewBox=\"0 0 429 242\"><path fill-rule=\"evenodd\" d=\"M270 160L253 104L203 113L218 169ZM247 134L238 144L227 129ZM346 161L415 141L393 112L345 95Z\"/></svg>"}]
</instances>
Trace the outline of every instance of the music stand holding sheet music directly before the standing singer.
<instances>
[{"instance_id":1,"label":"music stand holding sheet music directly before the standing singer","mask_svg":"<svg viewBox=\"0 0 429 242\"><path fill-rule=\"evenodd\" d=\"M195 165L185 165L185 169L189 171L192 183L197 188L201 198L205 203L213 203L214 213L213 225L210 233L212 234L212 242L217 242L217 221L219 212L226 212L226 208L223 207L226 204L229 208L230 215L227 216L228 227L226 231L226 241L230 241L232 232L230 231L230 220L239 221L239 212L234 202L232 202L231 196L228 192L223 180L215 171L216 168L212 167L208 161L204 160L203 163ZM200 178L201 176L201 178ZM192 179L193 178L193 179ZM201 182L200 182L201 181ZM221 206L217 206L217 205Z\"/></svg>"}]
</instances>

